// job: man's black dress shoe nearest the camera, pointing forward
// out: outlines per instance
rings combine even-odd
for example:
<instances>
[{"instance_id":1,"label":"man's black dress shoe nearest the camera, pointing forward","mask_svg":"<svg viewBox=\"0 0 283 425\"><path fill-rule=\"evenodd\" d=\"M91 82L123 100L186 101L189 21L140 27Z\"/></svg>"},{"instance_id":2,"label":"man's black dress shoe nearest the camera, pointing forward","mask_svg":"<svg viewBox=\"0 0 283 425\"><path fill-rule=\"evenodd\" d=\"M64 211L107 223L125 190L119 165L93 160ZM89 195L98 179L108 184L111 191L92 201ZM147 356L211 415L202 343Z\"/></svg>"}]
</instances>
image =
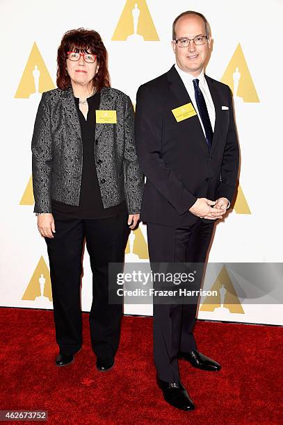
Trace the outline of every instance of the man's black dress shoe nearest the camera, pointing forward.
<instances>
[{"instance_id":1,"label":"man's black dress shoe nearest the camera, pointing forward","mask_svg":"<svg viewBox=\"0 0 283 425\"><path fill-rule=\"evenodd\" d=\"M194 410L193 400L190 399L181 382L170 383L157 378L157 384L163 392L165 401L171 406L181 410Z\"/></svg>"}]
</instances>

